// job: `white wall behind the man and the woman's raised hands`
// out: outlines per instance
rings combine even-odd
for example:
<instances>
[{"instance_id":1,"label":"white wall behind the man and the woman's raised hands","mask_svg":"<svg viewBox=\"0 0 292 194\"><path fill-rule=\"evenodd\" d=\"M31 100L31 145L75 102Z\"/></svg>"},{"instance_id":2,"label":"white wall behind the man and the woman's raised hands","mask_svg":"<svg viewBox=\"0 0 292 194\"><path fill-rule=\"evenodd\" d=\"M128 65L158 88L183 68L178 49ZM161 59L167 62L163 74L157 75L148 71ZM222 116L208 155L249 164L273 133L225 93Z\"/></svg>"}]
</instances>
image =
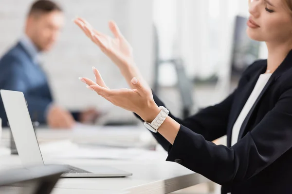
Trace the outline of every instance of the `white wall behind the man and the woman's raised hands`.
<instances>
[{"instance_id":1,"label":"white wall behind the man and the woman's raised hands","mask_svg":"<svg viewBox=\"0 0 292 194\"><path fill-rule=\"evenodd\" d=\"M26 12L32 0L1 0L0 54L14 44L23 32ZM75 16L86 18L101 32L110 33L113 19L134 48L137 65L147 81L152 76L152 0L57 0L64 8L66 25L55 48L44 55L43 65L51 81L55 100L70 109L112 107L85 88L79 76L93 78L91 66L98 68L109 87L127 87L118 68L73 24ZM17 4L17 6L16 6ZM132 115L119 108L113 113Z\"/></svg>"}]
</instances>

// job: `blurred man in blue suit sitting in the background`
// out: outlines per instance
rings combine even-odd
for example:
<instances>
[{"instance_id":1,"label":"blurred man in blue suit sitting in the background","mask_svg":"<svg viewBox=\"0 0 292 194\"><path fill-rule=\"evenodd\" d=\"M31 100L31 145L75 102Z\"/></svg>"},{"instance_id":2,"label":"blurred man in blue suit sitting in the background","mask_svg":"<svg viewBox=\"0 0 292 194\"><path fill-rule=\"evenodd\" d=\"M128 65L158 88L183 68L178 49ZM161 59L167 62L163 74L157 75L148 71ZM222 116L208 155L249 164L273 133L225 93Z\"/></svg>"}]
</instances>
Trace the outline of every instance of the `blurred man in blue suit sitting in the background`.
<instances>
[{"instance_id":1,"label":"blurred man in blue suit sitting in the background","mask_svg":"<svg viewBox=\"0 0 292 194\"><path fill-rule=\"evenodd\" d=\"M64 24L61 8L50 0L37 0L31 6L25 23L25 33L18 43L0 59L0 89L24 93L33 121L52 128L72 128L75 120L93 122L93 109L70 113L54 104L45 73L39 65L39 53L49 51ZM2 125L7 117L0 99Z\"/></svg>"}]
</instances>

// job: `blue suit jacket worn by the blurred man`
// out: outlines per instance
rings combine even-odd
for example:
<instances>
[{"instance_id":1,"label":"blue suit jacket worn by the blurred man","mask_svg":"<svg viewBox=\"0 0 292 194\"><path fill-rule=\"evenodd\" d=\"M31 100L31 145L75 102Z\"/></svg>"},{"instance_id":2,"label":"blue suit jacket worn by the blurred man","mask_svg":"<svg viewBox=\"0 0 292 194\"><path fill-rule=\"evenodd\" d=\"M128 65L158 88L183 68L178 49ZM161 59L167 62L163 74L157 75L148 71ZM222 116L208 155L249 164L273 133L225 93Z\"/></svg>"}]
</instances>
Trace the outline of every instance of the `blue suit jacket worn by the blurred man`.
<instances>
[{"instance_id":1,"label":"blue suit jacket worn by the blurred man","mask_svg":"<svg viewBox=\"0 0 292 194\"><path fill-rule=\"evenodd\" d=\"M23 92L31 119L46 123L46 112L53 102L48 80L20 42L0 59L0 89ZM7 116L1 98L0 117L2 125L6 126Z\"/></svg>"}]
</instances>

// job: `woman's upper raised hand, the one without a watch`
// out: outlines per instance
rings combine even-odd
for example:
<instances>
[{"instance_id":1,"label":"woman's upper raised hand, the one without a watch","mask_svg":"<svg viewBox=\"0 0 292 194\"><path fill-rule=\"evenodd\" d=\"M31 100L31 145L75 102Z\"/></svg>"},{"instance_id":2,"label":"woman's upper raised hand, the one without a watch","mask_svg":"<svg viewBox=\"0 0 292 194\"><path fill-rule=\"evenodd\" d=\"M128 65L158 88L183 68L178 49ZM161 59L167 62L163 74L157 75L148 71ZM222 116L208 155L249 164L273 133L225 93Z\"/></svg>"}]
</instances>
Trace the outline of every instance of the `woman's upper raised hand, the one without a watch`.
<instances>
[{"instance_id":1,"label":"woman's upper raised hand, the one without a watch","mask_svg":"<svg viewBox=\"0 0 292 194\"><path fill-rule=\"evenodd\" d=\"M87 21L80 17L76 18L74 23L77 24L119 68L124 68L134 63L132 47L113 21L109 22L109 27L114 38L94 30Z\"/></svg>"}]
</instances>

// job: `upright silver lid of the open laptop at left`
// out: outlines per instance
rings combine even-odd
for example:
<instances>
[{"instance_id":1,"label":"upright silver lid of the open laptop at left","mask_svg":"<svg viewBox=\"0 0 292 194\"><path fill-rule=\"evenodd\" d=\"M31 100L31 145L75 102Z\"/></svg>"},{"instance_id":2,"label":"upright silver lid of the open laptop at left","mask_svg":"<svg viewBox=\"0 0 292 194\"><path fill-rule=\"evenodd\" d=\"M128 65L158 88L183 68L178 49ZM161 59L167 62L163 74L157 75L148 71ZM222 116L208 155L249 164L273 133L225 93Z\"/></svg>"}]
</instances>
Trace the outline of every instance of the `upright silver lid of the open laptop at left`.
<instances>
[{"instance_id":1,"label":"upright silver lid of the open laptop at left","mask_svg":"<svg viewBox=\"0 0 292 194\"><path fill-rule=\"evenodd\" d=\"M22 165L43 165L37 136L23 93L9 90L0 90L0 93Z\"/></svg>"}]
</instances>

